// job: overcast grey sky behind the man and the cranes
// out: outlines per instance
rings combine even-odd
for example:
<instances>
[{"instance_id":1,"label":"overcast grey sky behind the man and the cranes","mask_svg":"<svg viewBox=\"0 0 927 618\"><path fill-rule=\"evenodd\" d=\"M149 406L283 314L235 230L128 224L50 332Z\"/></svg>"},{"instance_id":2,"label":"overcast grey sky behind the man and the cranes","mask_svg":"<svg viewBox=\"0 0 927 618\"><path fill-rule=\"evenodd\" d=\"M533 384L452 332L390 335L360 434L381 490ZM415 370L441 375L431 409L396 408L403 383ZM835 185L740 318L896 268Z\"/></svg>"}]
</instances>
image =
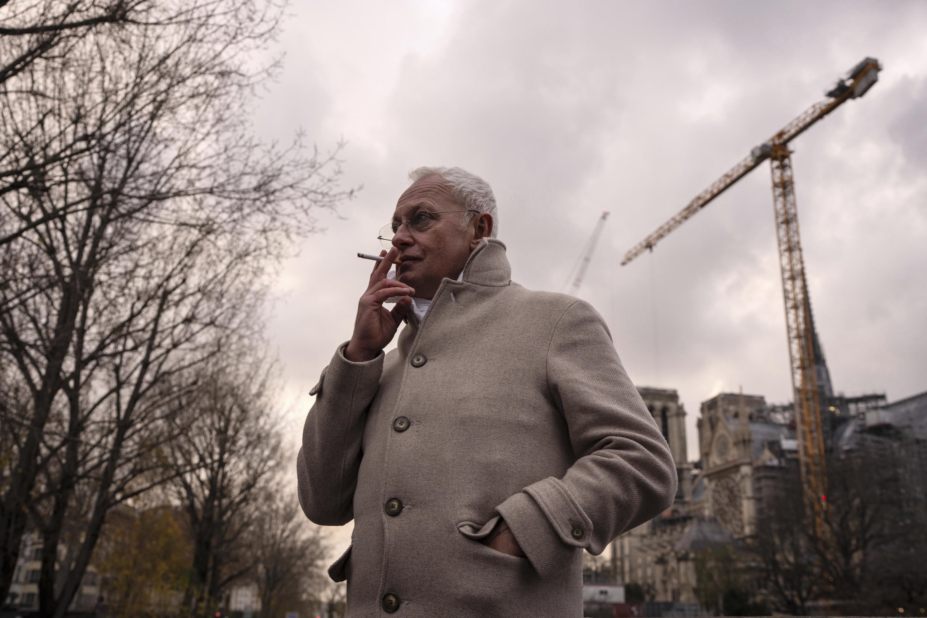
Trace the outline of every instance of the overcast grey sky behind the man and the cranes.
<instances>
[{"instance_id":1,"label":"overcast grey sky behind the man and the cranes","mask_svg":"<svg viewBox=\"0 0 927 618\"><path fill-rule=\"evenodd\" d=\"M579 296L637 385L674 388L698 458L719 392L790 398L764 163L629 266L624 252L823 98L863 57L879 82L792 144L811 300L837 391L927 390L927 3L296 2L256 115L345 149L363 185L301 245L270 336L292 436L350 337L358 296L420 165L493 187L514 281L561 291L602 209ZM347 531L339 533L346 545Z\"/></svg>"}]
</instances>

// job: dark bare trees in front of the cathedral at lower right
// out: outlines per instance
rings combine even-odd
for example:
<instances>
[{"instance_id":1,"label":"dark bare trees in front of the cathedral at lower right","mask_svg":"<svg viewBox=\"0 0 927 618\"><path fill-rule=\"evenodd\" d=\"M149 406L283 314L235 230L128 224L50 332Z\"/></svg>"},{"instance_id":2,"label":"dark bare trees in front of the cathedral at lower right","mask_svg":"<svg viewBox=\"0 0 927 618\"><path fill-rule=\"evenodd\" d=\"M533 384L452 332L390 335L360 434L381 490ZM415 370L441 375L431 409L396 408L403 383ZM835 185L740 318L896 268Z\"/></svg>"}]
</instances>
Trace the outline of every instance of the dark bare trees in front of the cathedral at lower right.
<instances>
[{"instance_id":1,"label":"dark bare trees in front of the cathedral at lower right","mask_svg":"<svg viewBox=\"0 0 927 618\"><path fill-rule=\"evenodd\" d=\"M871 445L869 445L871 446ZM859 448L828 460L828 517L807 517L797 465L762 497L756 534L695 552L697 593L718 615L887 615L927 606L927 514L910 453Z\"/></svg>"}]
</instances>

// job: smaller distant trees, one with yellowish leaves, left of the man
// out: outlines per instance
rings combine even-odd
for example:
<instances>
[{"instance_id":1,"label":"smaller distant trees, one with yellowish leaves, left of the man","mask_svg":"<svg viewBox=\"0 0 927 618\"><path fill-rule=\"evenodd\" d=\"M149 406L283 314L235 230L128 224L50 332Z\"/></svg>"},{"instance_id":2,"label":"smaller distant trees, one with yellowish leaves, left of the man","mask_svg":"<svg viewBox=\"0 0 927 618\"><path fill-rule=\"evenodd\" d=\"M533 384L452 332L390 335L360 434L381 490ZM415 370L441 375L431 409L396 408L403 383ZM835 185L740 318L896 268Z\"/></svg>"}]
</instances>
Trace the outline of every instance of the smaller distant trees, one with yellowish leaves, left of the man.
<instances>
[{"instance_id":1,"label":"smaller distant trees, one with yellowish leaves, left of the man","mask_svg":"<svg viewBox=\"0 0 927 618\"><path fill-rule=\"evenodd\" d=\"M93 566L110 613L207 615L255 585L261 616L308 614L324 592L327 547L286 490L271 383L247 363L221 369L177 410L190 418L163 451L170 479L108 515Z\"/></svg>"}]
</instances>

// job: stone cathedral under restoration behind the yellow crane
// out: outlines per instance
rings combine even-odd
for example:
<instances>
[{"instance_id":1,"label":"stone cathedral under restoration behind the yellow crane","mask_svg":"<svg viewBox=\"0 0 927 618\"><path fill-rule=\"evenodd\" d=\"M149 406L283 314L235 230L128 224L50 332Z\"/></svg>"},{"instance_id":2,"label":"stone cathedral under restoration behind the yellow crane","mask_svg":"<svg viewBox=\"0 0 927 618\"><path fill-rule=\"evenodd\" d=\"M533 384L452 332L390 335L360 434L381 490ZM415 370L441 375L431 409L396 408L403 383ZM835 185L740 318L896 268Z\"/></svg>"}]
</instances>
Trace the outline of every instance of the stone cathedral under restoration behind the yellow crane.
<instances>
[{"instance_id":1,"label":"stone cathedral under restoration behind the yellow crane","mask_svg":"<svg viewBox=\"0 0 927 618\"><path fill-rule=\"evenodd\" d=\"M917 438L920 450L909 459L927 460L922 446L927 444L927 393L887 404L884 395L834 396L822 382L828 448L844 451L866 440L886 441L880 437L884 427L910 426L914 430L905 435ZM697 552L743 545L756 533L757 513L781 490L785 473L798 467L792 406L768 405L765 397L743 392L711 397L702 402L696 423L700 459L690 462L686 410L677 391L639 386L638 392L676 461L679 490L667 511L616 538L607 556L611 573L626 586L641 586L647 600L696 602ZM889 442L889 448L900 448L900 441ZM906 477L927 487L923 473ZM915 493L927 495L927 489ZM922 501L927 504L927 498Z\"/></svg>"}]
</instances>

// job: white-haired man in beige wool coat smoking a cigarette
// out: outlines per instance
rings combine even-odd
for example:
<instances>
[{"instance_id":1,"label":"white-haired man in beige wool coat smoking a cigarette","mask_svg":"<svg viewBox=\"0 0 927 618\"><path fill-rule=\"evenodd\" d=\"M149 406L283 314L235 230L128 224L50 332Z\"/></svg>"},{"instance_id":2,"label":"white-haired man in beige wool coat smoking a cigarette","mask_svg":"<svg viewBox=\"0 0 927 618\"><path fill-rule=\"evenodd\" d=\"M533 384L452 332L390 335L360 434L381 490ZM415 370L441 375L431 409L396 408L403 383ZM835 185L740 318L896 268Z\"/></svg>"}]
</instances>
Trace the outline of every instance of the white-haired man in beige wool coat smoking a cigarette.
<instances>
[{"instance_id":1,"label":"white-haired man in beige wool coat smoking a cigarette","mask_svg":"<svg viewBox=\"0 0 927 618\"><path fill-rule=\"evenodd\" d=\"M329 569L349 616L581 616L583 549L672 503L666 440L599 314L511 281L489 184L410 176L354 333L311 390L299 502L315 523L354 520Z\"/></svg>"}]
</instances>

